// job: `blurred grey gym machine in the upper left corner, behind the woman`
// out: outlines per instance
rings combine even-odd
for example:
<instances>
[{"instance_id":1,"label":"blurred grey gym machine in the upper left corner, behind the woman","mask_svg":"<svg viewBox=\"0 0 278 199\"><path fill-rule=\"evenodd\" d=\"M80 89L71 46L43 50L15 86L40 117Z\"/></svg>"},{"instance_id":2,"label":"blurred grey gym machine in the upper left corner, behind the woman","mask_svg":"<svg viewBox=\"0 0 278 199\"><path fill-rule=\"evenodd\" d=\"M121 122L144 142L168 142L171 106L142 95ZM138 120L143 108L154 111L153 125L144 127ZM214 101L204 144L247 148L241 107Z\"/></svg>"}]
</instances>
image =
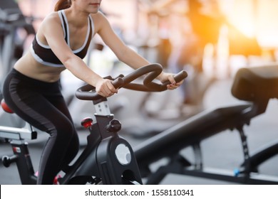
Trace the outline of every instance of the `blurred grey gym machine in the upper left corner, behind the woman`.
<instances>
[{"instance_id":1,"label":"blurred grey gym machine in the upper left corner, behind the woman","mask_svg":"<svg viewBox=\"0 0 278 199\"><path fill-rule=\"evenodd\" d=\"M33 16L24 16L16 1L1 0L0 2L0 80L24 53L24 43L27 36L35 35L32 22ZM24 30L26 36L21 38L19 30ZM3 82L0 82L2 85Z\"/></svg>"}]
</instances>

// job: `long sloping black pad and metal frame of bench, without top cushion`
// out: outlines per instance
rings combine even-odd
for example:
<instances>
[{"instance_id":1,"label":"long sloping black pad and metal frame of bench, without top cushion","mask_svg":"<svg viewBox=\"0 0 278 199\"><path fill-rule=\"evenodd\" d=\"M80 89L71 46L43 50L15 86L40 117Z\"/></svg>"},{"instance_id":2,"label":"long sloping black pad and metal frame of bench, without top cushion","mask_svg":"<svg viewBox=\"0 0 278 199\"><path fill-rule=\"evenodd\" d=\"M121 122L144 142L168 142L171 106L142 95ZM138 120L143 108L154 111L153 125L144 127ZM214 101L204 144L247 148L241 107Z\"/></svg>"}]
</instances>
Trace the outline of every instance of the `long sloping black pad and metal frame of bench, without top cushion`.
<instances>
[{"instance_id":1,"label":"long sloping black pad and metal frame of bench, without top cushion","mask_svg":"<svg viewBox=\"0 0 278 199\"><path fill-rule=\"evenodd\" d=\"M243 127L259 114L255 107L252 104L241 104L202 112L135 146L135 156L138 159L141 175L147 178L146 184L158 184L169 173L231 183L278 184L278 177L257 172L260 164L278 154L278 143L274 142L253 155L249 154L247 136L244 134ZM240 163L237 171L208 168L202 162L200 144L208 137L227 129L237 129L239 132L244 161ZM194 163L180 155L182 149L190 146L195 154ZM153 172L150 171L149 166L161 158L168 158L168 163Z\"/></svg>"}]
</instances>

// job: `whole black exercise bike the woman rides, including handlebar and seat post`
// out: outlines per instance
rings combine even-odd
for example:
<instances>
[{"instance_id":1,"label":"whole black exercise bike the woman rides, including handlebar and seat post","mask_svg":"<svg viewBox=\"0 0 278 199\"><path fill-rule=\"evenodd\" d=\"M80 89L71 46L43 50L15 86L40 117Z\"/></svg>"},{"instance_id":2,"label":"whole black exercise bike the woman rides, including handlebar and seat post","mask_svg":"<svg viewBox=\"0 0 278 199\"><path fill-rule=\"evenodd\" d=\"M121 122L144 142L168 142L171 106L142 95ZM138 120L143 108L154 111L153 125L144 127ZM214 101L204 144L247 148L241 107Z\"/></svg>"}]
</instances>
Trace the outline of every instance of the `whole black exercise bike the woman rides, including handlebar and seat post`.
<instances>
[{"instance_id":1,"label":"whole black exercise bike the woman rides, including handlebar and seat post","mask_svg":"<svg viewBox=\"0 0 278 199\"><path fill-rule=\"evenodd\" d=\"M160 92L167 90L169 82L158 84L153 80L163 68L158 64L146 65L134 70L128 75L119 75L113 79L116 88L125 87L133 90ZM145 75L143 84L133 83L133 80ZM187 77L187 72L181 71L175 75L176 82ZM58 184L143 184L138 163L133 149L123 137L118 135L121 124L113 118L108 107L108 100L96 93L95 87L83 85L76 91L76 97L93 101L96 109L96 122L93 119L83 119L81 124L88 128L88 144L77 160L63 170L63 176L56 179ZM2 107L12 112L4 102ZM29 129L0 127L0 137L11 141L13 156L3 156L4 166L16 163L22 184L36 184L36 176L29 155L26 139L36 139L36 131L27 124Z\"/></svg>"}]
</instances>

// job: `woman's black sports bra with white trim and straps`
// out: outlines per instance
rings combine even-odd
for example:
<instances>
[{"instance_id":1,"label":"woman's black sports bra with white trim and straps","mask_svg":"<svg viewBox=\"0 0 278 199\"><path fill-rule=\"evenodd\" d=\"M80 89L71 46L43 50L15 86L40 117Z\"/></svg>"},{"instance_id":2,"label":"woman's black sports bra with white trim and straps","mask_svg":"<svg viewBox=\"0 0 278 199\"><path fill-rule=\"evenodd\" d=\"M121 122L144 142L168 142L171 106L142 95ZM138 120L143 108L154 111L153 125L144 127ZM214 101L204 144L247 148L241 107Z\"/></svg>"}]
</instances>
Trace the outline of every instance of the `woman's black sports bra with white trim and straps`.
<instances>
[{"instance_id":1,"label":"woman's black sports bra with white trim and straps","mask_svg":"<svg viewBox=\"0 0 278 199\"><path fill-rule=\"evenodd\" d=\"M66 14L63 10L61 10L58 11L58 15L61 19L61 25L63 26L65 41L68 44L68 46L70 46L70 35L69 35L68 20L66 18ZM93 26L93 19L91 18L91 16L88 17L88 24L89 26L88 26L85 42L83 43L81 48L78 48L77 50L73 50L73 53L81 59L85 58L89 45L91 43L91 38L93 36L94 26ZM63 64L53 53L49 45L44 45L43 43L38 41L37 36L35 36L34 38L33 46L31 48L31 53L34 56L35 60L38 61L38 63L52 66L52 67L63 67Z\"/></svg>"}]
</instances>

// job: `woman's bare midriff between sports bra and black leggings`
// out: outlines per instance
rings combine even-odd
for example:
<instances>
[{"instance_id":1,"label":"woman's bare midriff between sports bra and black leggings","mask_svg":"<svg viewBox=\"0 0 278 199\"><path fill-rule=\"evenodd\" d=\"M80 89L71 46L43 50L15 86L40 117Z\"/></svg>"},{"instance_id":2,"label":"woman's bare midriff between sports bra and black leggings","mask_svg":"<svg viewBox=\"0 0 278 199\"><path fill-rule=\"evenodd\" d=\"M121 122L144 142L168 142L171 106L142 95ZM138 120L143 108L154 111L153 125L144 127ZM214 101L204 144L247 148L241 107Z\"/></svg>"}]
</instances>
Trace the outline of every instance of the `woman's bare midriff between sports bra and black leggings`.
<instances>
[{"instance_id":1,"label":"woman's bare midriff between sports bra and black leggings","mask_svg":"<svg viewBox=\"0 0 278 199\"><path fill-rule=\"evenodd\" d=\"M14 65L14 68L27 77L41 80L43 82L58 81L60 79L61 72L66 69L65 67L42 65L33 58L30 52L20 58Z\"/></svg>"}]
</instances>

